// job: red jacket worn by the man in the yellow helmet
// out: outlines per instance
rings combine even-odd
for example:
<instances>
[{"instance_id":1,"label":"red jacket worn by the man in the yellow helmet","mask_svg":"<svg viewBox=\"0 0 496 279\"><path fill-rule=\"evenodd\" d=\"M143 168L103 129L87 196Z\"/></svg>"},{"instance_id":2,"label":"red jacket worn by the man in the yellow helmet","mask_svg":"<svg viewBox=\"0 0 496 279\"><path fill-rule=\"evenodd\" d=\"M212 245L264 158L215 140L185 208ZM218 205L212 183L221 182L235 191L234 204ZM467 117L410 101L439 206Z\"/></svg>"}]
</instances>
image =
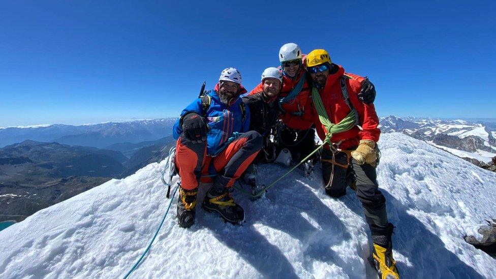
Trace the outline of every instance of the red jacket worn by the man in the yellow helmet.
<instances>
[{"instance_id":1,"label":"red jacket worn by the man in the yellow helmet","mask_svg":"<svg viewBox=\"0 0 496 279\"><path fill-rule=\"evenodd\" d=\"M324 104L327 115L332 123L339 123L339 121L343 120L348 113L350 113L350 107L343 99L343 93L340 85L340 79L345 74L345 69L341 66L338 67L339 70L337 73L327 77L325 87L323 89L319 89L320 98L322 99L322 103ZM381 134L381 130L377 128L379 126L379 117L377 117L374 104L367 105L358 99L358 93L361 88L361 80L363 80L363 78L353 74L346 75L351 77L351 79L345 79L348 88L348 95L352 106L358 112L360 121L359 125L362 129L360 130L360 128L355 126L349 131L334 134L331 141L333 143L337 143L343 140L339 145L339 148L341 149L357 146L361 139L368 139L377 142L379 141L379 135ZM320 139L324 140L327 130L320 122L319 115L317 114L317 110L315 108L313 109L313 112L317 134Z\"/></svg>"}]
</instances>

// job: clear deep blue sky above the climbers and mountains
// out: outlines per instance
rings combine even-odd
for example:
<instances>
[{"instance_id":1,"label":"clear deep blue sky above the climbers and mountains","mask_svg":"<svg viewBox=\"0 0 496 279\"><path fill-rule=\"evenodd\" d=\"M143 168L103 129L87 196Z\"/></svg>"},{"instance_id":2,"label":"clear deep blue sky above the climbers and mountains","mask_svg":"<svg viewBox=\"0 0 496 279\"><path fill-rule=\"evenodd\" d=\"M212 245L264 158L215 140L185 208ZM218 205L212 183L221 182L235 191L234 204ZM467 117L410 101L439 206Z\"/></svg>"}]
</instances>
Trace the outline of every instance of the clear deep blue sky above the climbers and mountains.
<instances>
[{"instance_id":1,"label":"clear deep blue sky above the climbers and mountains","mask_svg":"<svg viewBox=\"0 0 496 279\"><path fill-rule=\"evenodd\" d=\"M288 42L369 76L381 116L496 117L494 2L246 3L1 2L0 127L177 116Z\"/></svg>"}]
</instances>

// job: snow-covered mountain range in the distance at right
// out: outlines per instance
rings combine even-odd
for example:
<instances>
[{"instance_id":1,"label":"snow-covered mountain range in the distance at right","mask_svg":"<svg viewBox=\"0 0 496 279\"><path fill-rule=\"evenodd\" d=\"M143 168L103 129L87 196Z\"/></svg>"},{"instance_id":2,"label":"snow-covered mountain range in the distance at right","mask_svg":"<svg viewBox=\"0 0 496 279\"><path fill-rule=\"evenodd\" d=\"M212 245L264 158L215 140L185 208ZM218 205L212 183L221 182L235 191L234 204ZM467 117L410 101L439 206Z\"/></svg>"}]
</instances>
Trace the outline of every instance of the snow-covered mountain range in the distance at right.
<instances>
[{"instance_id":1,"label":"snow-covered mountain range in the distance at right","mask_svg":"<svg viewBox=\"0 0 496 279\"><path fill-rule=\"evenodd\" d=\"M496 156L496 123L388 116L380 119L380 129L404 133L461 158L487 163Z\"/></svg>"}]
</instances>

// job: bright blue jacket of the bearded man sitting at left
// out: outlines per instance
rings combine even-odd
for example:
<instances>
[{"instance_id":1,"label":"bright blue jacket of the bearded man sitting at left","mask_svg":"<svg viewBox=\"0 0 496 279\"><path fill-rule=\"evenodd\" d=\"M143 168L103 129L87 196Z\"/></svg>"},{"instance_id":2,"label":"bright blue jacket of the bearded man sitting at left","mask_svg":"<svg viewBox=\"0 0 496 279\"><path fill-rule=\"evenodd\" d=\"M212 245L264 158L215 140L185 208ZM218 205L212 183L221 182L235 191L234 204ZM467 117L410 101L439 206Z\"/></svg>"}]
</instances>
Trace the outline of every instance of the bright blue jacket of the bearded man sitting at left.
<instances>
[{"instance_id":1,"label":"bright blue jacket of the bearded man sitting at left","mask_svg":"<svg viewBox=\"0 0 496 279\"><path fill-rule=\"evenodd\" d=\"M210 90L208 95L211 97L210 107L203 112L201 98L193 101L188 107L182 110L181 117L188 112L196 112L206 117L209 131L207 134L207 154L215 156L222 151L229 138L236 136L234 133L245 133L250 131L250 109L244 106L241 98L237 98L231 105L227 106L221 103L218 92ZM242 117L241 106L244 106L244 117ZM243 119L242 119L243 118ZM181 118L179 118L181 119ZM182 134L182 127L179 125L179 119L174 124L173 135L178 139Z\"/></svg>"}]
</instances>

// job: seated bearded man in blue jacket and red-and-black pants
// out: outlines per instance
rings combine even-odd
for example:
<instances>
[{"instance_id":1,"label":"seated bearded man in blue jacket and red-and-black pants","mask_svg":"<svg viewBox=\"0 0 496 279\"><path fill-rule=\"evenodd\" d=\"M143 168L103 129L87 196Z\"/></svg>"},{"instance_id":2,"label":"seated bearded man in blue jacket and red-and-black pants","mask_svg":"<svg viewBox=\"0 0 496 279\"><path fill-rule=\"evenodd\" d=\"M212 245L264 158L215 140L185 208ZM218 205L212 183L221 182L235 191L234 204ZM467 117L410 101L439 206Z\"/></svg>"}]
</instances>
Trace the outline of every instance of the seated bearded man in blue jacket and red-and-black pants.
<instances>
[{"instance_id":1,"label":"seated bearded man in blue jacket and red-and-black pants","mask_svg":"<svg viewBox=\"0 0 496 279\"><path fill-rule=\"evenodd\" d=\"M183 228L195 222L199 181L213 182L202 204L205 210L232 224L244 220L229 190L262 148L262 136L250 131L250 110L239 98L246 92L241 81L238 70L225 69L215 88L185 108L174 125L181 177L177 220Z\"/></svg>"}]
</instances>

